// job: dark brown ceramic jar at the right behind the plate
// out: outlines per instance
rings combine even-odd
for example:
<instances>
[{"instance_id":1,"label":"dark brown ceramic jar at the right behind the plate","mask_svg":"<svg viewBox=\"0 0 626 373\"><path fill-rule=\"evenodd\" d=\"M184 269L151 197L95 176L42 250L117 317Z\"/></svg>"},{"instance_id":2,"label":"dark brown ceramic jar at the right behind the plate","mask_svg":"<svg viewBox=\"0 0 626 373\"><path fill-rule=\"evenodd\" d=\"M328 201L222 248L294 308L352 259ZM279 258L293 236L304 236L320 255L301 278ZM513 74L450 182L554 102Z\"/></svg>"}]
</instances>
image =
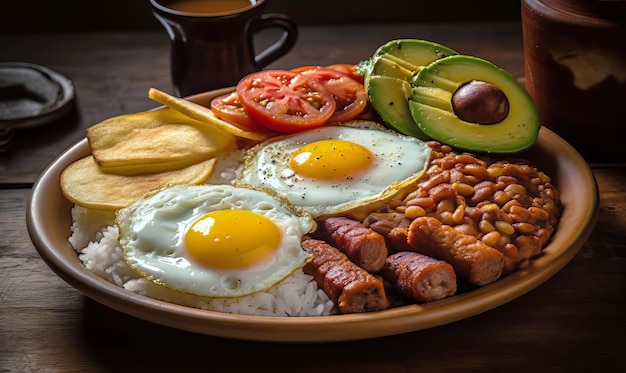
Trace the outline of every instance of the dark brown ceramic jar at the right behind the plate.
<instances>
[{"instance_id":1,"label":"dark brown ceramic jar at the right behind the plate","mask_svg":"<svg viewBox=\"0 0 626 373\"><path fill-rule=\"evenodd\" d=\"M524 0L526 89L587 161L626 161L626 0Z\"/></svg>"}]
</instances>

